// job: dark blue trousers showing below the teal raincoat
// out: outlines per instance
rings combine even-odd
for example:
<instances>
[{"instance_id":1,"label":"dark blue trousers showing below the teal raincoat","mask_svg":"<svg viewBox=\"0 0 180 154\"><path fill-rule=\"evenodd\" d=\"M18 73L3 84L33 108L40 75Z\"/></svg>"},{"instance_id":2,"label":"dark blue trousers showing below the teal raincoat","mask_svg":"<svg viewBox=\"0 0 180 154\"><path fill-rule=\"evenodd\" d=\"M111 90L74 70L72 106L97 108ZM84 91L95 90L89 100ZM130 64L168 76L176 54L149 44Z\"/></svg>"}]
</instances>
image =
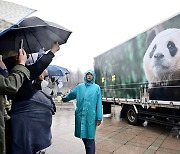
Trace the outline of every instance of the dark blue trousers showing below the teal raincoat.
<instances>
[{"instance_id":1,"label":"dark blue trousers showing below the teal raincoat","mask_svg":"<svg viewBox=\"0 0 180 154\"><path fill-rule=\"evenodd\" d=\"M86 139L82 138L85 149L86 149L86 154L95 154L95 141L94 139Z\"/></svg>"}]
</instances>

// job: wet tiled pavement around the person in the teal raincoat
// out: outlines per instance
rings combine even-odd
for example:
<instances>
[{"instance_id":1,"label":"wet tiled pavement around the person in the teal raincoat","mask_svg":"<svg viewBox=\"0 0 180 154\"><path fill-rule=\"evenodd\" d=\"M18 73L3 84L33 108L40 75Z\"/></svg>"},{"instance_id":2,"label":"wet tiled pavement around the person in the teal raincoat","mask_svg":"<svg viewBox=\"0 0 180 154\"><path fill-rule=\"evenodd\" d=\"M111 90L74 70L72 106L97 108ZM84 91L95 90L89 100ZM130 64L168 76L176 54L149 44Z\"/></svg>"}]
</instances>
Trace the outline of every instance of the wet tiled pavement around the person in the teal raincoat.
<instances>
[{"instance_id":1,"label":"wet tiled pavement around the person in the teal raincoat","mask_svg":"<svg viewBox=\"0 0 180 154\"><path fill-rule=\"evenodd\" d=\"M112 106L112 117L103 118L96 132L96 154L180 154L180 140L171 129L158 125L132 126L119 118L120 106ZM85 154L81 139L74 137L74 106L58 104L53 116L52 145L46 154Z\"/></svg>"}]
</instances>

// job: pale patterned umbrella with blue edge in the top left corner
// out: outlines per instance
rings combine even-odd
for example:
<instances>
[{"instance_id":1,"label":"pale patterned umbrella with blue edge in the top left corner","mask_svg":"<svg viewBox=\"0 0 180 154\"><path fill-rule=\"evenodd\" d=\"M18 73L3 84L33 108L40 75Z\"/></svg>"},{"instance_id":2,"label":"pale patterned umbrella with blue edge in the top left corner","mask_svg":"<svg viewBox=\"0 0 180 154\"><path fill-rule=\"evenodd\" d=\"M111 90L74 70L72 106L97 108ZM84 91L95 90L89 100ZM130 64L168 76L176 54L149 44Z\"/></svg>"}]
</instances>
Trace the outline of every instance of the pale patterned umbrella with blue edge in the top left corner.
<instances>
[{"instance_id":1,"label":"pale patterned umbrella with blue edge in the top left corner","mask_svg":"<svg viewBox=\"0 0 180 154\"><path fill-rule=\"evenodd\" d=\"M25 17L32 14L34 9L0 0L0 35L19 24Z\"/></svg>"}]
</instances>

